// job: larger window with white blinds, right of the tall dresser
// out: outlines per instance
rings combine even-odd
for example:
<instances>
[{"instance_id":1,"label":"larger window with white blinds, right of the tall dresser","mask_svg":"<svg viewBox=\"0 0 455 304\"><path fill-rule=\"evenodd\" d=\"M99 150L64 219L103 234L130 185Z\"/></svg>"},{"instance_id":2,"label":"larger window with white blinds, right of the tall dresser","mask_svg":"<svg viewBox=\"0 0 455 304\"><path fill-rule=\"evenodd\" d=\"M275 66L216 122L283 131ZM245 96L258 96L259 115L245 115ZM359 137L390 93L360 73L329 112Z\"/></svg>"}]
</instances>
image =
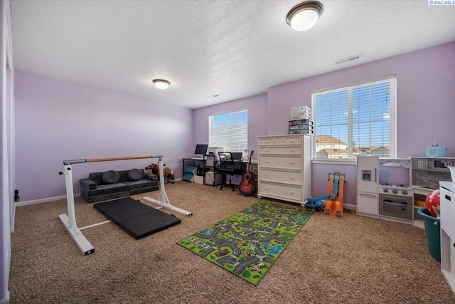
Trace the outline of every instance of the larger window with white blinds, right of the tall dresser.
<instances>
[{"instance_id":1,"label":"larger window with white blinds, right of the tall dresser","mask_svg":"<svg viewBox=\"0 0 455 304\"><path fill-rule=\"evenodd\" d=\"M314 155L396 157L395 75L311 94Z\"/></svg>"}]
</instances>

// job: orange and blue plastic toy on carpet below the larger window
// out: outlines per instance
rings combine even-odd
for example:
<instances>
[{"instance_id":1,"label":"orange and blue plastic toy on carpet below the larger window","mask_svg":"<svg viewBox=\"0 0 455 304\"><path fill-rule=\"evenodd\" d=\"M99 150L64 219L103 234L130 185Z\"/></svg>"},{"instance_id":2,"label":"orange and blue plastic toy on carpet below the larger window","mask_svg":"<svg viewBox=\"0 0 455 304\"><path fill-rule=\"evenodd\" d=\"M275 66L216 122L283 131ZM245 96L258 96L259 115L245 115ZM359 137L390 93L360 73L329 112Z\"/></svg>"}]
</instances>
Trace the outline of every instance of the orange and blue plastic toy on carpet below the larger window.
<instances>
[{"instance_id":1,"label":"orange and blue plastic toy on carpet below the larger window","mask_svg":"<svg viewBox=\"0 0 455 304\"><path fill-rule=\"evenodd\" d=\"M323 208L323 214L332 217L343 217L343 187L346 182L346 174L333 172L328 174L328 195L319 197L307 197L306 208L315 212L322 209L322 200L327 199L326 206Z\"/></svg>"}]
</instances>

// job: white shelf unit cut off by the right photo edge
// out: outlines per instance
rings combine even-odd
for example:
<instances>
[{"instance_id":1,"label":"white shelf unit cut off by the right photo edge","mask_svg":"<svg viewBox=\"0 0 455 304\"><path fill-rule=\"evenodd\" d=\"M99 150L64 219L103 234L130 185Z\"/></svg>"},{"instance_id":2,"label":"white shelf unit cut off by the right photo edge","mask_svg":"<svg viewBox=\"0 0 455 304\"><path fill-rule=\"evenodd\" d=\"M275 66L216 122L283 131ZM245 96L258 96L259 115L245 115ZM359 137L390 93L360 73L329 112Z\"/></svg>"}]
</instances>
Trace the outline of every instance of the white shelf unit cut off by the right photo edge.
<instances>
[{"instance_id":1,"label":"white shelf unit cut off by the right photo edge","mask_svg":"<svg viewBox=\"0 0 455 304\"><path fill-rule=\"evenodd\" d=\"M455 183L440 182L441 272L455 293Z\"/></svg>"}]
</instances>

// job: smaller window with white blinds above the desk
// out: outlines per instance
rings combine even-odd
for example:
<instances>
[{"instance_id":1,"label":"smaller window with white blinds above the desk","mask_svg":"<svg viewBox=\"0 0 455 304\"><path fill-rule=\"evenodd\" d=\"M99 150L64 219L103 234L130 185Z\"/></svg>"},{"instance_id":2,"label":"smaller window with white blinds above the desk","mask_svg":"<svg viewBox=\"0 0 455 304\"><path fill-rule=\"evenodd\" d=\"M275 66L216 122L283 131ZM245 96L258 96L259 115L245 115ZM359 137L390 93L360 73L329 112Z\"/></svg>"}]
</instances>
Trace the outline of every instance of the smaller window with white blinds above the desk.
<instances>
[{"instance_id":1,"label":"smaller window with white blinds above the desk","mask_svg":"<svg viewBox=\"0 0 455 304\"><path fill-rule=\"evenodd\" d=\"M227 152L248 147L248 110L225 112L208 117L208 145Z\"/></svg>"}]
</instances>

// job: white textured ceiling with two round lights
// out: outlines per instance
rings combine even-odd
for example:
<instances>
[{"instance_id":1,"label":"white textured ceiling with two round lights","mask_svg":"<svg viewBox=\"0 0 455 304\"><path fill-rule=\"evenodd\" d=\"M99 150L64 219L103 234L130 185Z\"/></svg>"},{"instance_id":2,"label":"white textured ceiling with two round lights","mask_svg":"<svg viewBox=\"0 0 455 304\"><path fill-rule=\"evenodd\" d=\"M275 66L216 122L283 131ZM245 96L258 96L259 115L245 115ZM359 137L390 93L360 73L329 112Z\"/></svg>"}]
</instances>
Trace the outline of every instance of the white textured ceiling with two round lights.
<instances>
[{"instance_id":1,"label":"white textured ceiling with two round lights","mask_svg":"<svg viewBox=\"0 0 455 304\"><path fill-rule=\"evenodd\" d=\"M299 2L11 0L14 67L201 108L455 41L455 5L322 0L316 26L296 32L286 15Z\"/></svg>"}]
</instances>

